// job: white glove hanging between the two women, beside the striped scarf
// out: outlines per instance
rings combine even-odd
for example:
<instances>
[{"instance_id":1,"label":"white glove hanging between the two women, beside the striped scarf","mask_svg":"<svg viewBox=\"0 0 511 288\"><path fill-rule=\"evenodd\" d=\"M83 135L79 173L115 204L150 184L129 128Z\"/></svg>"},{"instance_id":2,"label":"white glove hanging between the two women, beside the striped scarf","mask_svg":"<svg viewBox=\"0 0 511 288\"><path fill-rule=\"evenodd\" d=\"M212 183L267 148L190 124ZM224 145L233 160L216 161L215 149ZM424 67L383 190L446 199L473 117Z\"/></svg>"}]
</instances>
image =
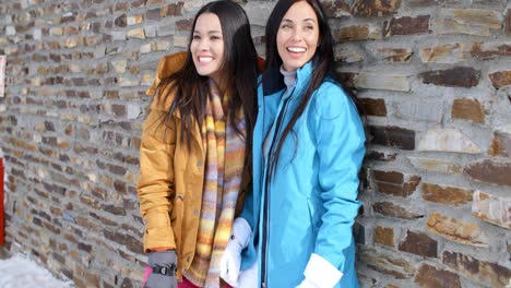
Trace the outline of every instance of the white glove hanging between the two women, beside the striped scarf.
<instances>
[{"instance_id":1,"label":"white glove hanging between the two women, beside the striped scarf","mask_svg":"<svg viewBox=\"0 0 511 288\"><path fill-rule=\"evenodd\" d=\"M228 285L238 285L239 269L241 266L241 251L248 245L252 229L243 218L236 218L233 223L233 231L222 255L219 276Z\"/></svg>"}]
</instances>

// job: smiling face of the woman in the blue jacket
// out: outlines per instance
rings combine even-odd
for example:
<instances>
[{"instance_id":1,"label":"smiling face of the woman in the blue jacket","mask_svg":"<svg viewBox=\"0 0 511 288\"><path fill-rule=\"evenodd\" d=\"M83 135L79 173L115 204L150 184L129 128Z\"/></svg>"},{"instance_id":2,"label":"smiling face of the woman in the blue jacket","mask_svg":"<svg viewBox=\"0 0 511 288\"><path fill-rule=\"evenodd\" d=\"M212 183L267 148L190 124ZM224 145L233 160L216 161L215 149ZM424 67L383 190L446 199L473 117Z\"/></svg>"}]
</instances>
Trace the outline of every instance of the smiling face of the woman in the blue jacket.
<instances>
[{"instance_id":1,"label":"smiling face of the woman in the blue jacket","mask_svg":"<svg viewBox=\"0 0 511 288\"><path fill-rule=\"evenodd\" d=\"M285 71L295 71L309 62L319 43L318 16L306 1L293 4L281 21L277 50Z\"/></svg>"}]
</instances>

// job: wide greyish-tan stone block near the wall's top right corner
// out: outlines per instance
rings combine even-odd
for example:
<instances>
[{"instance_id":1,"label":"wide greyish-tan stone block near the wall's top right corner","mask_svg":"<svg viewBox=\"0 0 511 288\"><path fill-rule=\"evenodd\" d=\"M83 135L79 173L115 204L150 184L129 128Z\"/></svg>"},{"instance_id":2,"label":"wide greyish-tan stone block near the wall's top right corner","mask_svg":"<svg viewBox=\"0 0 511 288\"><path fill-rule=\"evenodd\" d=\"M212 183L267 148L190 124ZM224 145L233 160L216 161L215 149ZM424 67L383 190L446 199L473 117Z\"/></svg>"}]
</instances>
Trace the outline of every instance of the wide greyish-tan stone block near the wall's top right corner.
<instances>
[{"instance_id":1,"label":"wide greyish-tan stone block near the wall's top right corner","mask_svg":"<svg viewBox=\"0 0 511 288\"><path fill-rule=\"evenodd\" d=\"M490 36L502 27L502 13L483 9L442 9L437 23L439 34Z\"/></svg>"}]
</instances>

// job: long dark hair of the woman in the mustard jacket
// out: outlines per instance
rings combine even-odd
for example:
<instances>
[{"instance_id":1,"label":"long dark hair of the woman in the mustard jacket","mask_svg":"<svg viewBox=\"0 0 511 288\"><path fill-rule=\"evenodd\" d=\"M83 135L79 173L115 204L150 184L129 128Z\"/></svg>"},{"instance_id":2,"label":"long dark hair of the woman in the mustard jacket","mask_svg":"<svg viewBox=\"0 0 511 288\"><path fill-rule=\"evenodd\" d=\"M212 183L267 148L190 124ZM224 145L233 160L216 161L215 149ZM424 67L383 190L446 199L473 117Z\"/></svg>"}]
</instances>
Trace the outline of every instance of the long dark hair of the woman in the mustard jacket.
<instances>
[{"instance_id":1,"label":"long dark hair of the woman in the mustard jacket","mask_svg":"<svg viewBox=\"0 0 511 288\"><path fill-rule=\"evenodd\" d=\"M243 9L229 0L214 1L202 7L193 20L192 31L188 43L188 52L185 64L176 73L162 80L157 93L167 92L162 103L174 93L175 98L170 105L166 121L171 121L173 113L181 115L181 139L187 141L190 148L193 121L202 125L205 112L206 96L210 93L209 77L201 76L193 64L190 45L197 20L204 13L213 13L218 16L224 39L224 62L221 65L222 84L225 91L230 93L228 117L231 123L237 123L238 111L245 115L247 133L245 169L251 167L252 130L255 123L257 96L255 82L258 76L257 51L250 34L250 23ZM217 83L218 84L218 83ZM168 87L168 88L167 88ZM159 97L158 97L159 98ZM236 124L234 128L238 134L240 131Z\"/></svg>"}]
</instances>

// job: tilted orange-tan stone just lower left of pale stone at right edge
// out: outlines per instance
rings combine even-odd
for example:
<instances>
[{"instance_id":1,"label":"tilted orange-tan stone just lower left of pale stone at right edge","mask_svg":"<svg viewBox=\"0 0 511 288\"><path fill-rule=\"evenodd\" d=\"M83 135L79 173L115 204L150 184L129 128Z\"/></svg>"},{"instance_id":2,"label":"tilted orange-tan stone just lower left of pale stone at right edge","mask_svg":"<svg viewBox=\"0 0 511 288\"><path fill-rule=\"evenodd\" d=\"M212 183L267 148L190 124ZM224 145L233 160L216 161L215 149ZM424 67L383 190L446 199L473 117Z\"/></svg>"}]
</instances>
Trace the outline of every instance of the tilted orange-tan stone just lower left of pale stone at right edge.
<instances>
[{"instance_id":1,"label":"tilted orange-tan stone just lower left of pale stone at right edge","mask_svg":"<svg viewBox=\"0 0 511 288\"><path fill-rule=\"evenodd\" d=\"M462 244L489 247L487 236L475 223L431 213L426 223L426 229Z\"/></svg>"}]
</instances>

